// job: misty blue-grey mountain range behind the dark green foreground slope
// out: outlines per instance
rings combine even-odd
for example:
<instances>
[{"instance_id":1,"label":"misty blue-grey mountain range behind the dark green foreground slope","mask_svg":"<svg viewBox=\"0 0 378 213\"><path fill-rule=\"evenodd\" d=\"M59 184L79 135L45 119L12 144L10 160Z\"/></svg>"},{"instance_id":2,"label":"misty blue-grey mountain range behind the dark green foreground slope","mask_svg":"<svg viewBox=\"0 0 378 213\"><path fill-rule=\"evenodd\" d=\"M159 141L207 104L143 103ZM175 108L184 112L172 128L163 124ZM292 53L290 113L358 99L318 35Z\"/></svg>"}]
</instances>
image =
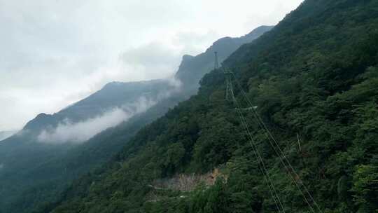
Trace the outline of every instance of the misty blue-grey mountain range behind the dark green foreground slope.
<instances>
[{"instance_id":1,"label":"misty blue-grey mountain range behind the dark green foreground slope","mask_svg":"<svg viewBox=\"0 0 378 213\"><path fill-rule=\"evenodd\" d=\"M193 62L184 56L175 79L108 83L56 114L36 116L0 142L0 212L31 212L54 202L71 180L109 161L144 125L194 95L197 82L210 71L208 64L214 65L214 46L222 61L271 28L216 41Z\"/></svg>"}]
</instances>

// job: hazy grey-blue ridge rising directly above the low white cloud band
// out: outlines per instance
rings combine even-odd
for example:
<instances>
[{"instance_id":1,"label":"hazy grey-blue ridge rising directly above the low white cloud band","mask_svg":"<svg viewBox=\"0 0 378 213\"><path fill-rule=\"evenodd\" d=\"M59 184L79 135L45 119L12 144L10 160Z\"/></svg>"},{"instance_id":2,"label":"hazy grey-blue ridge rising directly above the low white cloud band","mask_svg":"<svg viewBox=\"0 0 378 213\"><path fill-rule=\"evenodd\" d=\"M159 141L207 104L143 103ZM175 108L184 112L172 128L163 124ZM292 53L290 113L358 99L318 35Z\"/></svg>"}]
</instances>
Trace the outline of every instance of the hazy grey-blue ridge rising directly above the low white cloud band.
<instances>
[{"instance_id":1,"label":"hazy grey-blue ridge rising directly above the low white cloud band","mask_svg":"<svg viewBox=\"0 0 378 213\"><path fill-rule=\"evenodd\" d=\"M64 119L72 123L85 121L114 108L124 108L136 103L141 97L157 101L159 95L175 90L175 85L167 80L152 80L138 82L112 82L89 97L71 104L56 114L39 114L25 125L24 130L41 131L45 128L56 127Z\"/></svg>"}]
</instances>

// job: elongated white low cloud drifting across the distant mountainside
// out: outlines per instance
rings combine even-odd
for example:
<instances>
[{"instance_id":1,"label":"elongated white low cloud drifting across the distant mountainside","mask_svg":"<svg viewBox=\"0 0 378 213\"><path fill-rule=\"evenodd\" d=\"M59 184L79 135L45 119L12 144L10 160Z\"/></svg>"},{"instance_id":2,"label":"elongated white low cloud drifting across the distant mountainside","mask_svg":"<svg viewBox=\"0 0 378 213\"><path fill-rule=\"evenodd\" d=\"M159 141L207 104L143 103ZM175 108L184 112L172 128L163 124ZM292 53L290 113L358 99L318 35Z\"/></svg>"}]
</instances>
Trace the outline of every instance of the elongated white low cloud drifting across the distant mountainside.
<instances>
[{"instance_id":1,"label":"elongated white low cloud drifting across the distant mountainside","mask_svg":"<svg viewBox=\"0 0 378 213\"><path fill-rule=\"evenodd\" d=\"M66 142L82 143L99 132L114 127L123 121L127 121L132 116L146 111L154 104L156 104L156 101L153 99L141 97L133 104L111 109L101 116L90 118L86 121L72 123L66 119L53 130L43 130L38 135L38 142L49 144L62 144Z\"/></svg>"}]
</instances>

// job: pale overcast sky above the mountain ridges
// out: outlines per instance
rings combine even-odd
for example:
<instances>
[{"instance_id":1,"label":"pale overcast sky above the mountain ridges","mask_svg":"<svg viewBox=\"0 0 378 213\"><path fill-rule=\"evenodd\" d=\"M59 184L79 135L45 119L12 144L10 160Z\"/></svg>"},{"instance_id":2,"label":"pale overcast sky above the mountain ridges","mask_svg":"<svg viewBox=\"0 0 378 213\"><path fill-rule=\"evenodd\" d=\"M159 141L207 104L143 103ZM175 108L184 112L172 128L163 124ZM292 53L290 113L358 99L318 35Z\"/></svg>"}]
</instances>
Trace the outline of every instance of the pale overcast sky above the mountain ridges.
<instances>
[{"instance_id":1,"label":"pale overcast sky above the mountain ridges","mask_svg":"<svg viewBox=\"0 0 378 213\"><path fill-rule=\"evenodd\" d=\"M275 25L302 0L0 0L0 131Z\"/></svg>"}]
</instances>

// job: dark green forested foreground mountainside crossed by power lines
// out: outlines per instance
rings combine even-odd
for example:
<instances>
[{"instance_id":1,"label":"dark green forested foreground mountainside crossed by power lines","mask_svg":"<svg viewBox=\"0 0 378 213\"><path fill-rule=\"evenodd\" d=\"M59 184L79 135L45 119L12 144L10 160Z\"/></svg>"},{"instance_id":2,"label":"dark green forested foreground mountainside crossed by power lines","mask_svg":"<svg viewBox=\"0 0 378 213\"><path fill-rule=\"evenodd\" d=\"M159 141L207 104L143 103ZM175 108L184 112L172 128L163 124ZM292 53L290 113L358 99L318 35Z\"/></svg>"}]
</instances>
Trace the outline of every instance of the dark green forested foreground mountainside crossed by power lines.
<instances>
[{"instance_id":1,"label":"dark green forested foreground mountainside crossed by power lines","mask_svg":"<svg viewBox=\"0 0 378 213\"><path fill-rule=\"evenodd\" d=\"M377 27L304 1L37 212L377 212Z\"/></svg>"}]
</instances>

